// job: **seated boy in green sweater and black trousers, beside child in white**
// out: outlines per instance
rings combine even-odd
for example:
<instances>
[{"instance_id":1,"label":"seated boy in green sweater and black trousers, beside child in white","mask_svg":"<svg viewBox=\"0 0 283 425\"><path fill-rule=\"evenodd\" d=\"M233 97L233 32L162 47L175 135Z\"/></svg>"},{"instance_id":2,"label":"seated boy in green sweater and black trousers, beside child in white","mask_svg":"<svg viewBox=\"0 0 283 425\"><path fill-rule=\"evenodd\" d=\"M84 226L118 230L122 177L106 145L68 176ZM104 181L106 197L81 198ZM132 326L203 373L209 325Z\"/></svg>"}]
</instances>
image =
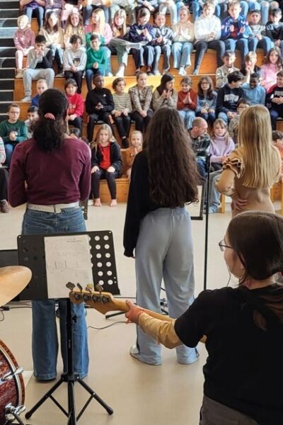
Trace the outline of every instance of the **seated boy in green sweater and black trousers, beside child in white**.
<instances>
[{"instance_id":1,"label":"seated boy in green sweater and black trousers, beside child in white","mask_svg":"<svg viewBox=\"0 0 283 425\"><path fill-rule=\"evenodd\" d=\"M91 35L91 47L86 51L86 85L88 91L92 89L91 81L97 74L105 74L107 56L105 50L100 48L100 35Z\"/></svg>"}]
</instances>

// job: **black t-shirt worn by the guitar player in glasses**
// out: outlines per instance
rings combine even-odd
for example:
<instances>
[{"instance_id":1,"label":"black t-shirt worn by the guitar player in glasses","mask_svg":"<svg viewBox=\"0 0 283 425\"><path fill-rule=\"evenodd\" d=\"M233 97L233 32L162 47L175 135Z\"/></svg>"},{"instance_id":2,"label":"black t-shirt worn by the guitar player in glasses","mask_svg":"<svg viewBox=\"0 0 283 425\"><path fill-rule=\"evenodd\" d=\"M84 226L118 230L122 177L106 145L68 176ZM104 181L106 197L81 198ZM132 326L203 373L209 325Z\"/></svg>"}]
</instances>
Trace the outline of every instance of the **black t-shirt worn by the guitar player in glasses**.
<instances>
[{"instance_id":1,"label":"black t-shirt worn by the guitar player in glasses","mask_svg":"<svg viewBox=\"0 0 283 425\"><path fill-rule=\"evenodd\" d=\"M273 317L266 331L257 327L250 302L257 304L273 291L283 300L279 285L206 290L175 322L186 346L196 346L207 335L204 395L260 425L283 424L283 325Z\"/></svg>"}]
</instances>

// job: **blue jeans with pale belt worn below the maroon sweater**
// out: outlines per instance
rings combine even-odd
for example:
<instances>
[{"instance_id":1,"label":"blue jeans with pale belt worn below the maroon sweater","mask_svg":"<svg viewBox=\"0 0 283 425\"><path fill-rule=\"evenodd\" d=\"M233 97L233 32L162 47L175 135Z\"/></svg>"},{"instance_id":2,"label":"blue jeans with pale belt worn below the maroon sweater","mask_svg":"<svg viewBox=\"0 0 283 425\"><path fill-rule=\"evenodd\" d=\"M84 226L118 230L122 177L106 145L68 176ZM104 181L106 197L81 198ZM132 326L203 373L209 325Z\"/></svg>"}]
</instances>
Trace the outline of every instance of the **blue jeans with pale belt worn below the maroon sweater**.
<instances>
[{"instance_id":1,"label":"blue jeans with pale belt worn below the maroon sweater","mask_svg":"<svg viewBox=\"0 0 283 425\"><path fill-rule=\"evenodd\" d=\"M64 208L59 214L26 210L22 234L84 232L86 225L80 208ZM68 295L68 290L66 290ZM55 300L33 301L33 370L38 380L57 376L58 339ZM71 305L76 315L74 323L74 372L81 378L88 374L88 334L84 305ZM67 300L59 300L61 354L64 373L67 373Z\"/></svg>"}]
</instances>

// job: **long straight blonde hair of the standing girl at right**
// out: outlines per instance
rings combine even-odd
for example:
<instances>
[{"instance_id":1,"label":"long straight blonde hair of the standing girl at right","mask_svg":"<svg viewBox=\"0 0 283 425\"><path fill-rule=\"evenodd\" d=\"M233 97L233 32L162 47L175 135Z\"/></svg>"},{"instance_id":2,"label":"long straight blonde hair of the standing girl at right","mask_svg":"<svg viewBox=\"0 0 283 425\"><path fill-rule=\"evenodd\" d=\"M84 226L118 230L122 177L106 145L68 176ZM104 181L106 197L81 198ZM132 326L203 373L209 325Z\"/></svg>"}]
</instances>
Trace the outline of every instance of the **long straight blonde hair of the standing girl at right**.
<instances>
[{"instance_id":1,"label":"long straight blonde hair of the standing girl at right","mask_svg":"<svg viewBox=\"0 0 283 425\"><path fill-rule=\"evenodd\" d=\"M270 113L265 106L250 106L241 113L238 145L243 186L272 187L280 175L281 159L278 149L272 145Z\"/></svg>"}]
</instances>

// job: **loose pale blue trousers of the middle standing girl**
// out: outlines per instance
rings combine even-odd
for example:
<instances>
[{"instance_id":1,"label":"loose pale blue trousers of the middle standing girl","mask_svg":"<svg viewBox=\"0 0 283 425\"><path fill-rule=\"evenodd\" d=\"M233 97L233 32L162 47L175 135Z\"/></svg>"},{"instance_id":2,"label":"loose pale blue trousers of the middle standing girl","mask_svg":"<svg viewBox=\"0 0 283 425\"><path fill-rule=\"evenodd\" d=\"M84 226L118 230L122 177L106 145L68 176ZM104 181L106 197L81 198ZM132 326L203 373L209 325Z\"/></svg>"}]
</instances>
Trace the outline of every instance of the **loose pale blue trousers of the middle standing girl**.
<instances>
[{"instance_id":1,"label":"loose pale blue trousers of the middle standing girl","mask_svg":"<svg viewBox=\"0 0 283 425\"><path fill-rule=\"evenodd\" d=\"M170 317L179 317L194 301L195 276L192 226L185 208L158 208L144 217L137 239L137 305L160 312L161 281L164 280ZM137 327L139 358L161 363L161 346ZM193 363L196 348L178 346L179 363Z\"/></svg>"}]
</instances>

